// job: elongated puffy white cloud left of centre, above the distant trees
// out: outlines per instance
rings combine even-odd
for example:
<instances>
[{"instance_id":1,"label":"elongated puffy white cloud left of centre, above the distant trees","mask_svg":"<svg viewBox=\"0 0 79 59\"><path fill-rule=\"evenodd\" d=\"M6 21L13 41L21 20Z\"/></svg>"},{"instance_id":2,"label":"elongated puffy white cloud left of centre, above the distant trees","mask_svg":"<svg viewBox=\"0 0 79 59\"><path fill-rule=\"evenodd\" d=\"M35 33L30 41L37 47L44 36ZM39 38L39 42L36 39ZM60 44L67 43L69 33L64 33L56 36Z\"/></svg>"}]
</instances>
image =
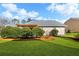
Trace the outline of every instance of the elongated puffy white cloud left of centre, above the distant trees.
<instances>
[{"instance_id":1,"label":"elongated puffy white cloud left of centre, above the distant trees","mask_svg":"<svg viewBox=\"0 0 79 59\"><path fill-rule=\"evenodd\" d=\"M20 16L20 18L35 18L39 16L39 13L36 11L27 11L25 9L19 9L17 14Z\"/></svg>"}]
</instances>

